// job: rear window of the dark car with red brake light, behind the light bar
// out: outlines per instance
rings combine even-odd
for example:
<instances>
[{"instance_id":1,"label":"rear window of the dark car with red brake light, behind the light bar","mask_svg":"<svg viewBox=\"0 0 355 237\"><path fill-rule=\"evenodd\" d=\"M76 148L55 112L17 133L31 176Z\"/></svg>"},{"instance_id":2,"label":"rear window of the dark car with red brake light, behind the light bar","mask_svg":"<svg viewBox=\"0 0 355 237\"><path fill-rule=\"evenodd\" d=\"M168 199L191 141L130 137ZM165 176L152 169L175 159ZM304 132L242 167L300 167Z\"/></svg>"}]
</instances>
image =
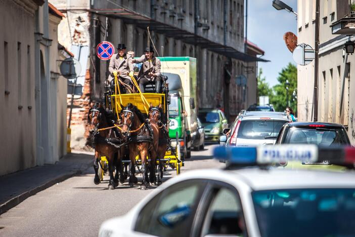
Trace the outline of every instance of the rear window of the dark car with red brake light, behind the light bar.
<instances>
[{"instance_id":1,"label":"rear window of the dark car with red brake light, behind the light bar","mask_svg":"<svg viewBox=\"0 0 355 237\"><path fill-rule=\"evenodd\" d=\"M296 128L291 127L283 143L308 143L321 146L347 144L348 141L341 128Z\"/></svg>"}]
</instances>

